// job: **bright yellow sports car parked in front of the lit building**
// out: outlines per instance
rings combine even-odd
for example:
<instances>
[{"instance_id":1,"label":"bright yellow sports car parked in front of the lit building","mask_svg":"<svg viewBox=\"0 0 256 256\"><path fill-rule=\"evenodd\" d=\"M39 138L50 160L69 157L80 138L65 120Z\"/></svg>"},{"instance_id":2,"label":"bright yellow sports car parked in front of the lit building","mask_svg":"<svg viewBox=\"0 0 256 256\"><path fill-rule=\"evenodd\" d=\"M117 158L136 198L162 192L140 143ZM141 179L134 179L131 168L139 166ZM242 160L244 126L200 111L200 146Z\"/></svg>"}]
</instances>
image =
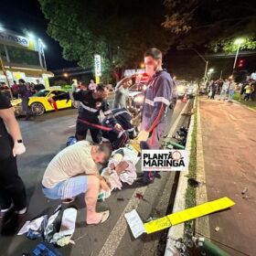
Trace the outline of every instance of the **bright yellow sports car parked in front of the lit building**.
<instances>
[{"instance_id":1,"label":"bright yellow sports car parked in front of the lit building","mask_svg":"<svg viewBox=\"0 0 256 256\"><path fill-rule=\"evenodd\" d=\"M54 108L48 102L48 98L59 95L63 92L63 90L51 89L51 90L41 90L38 91L33 96L29 97L28 106L30 110L35 115L42 115L44 112L54 111ZM12 101L12 105L15 108L16 115L22 114L22 107L21 107L21 99L16 99ZM78 102L77 101L56 101L58 109L66 109L66 108L77 108Z\"/></svg>"}]
</instances>

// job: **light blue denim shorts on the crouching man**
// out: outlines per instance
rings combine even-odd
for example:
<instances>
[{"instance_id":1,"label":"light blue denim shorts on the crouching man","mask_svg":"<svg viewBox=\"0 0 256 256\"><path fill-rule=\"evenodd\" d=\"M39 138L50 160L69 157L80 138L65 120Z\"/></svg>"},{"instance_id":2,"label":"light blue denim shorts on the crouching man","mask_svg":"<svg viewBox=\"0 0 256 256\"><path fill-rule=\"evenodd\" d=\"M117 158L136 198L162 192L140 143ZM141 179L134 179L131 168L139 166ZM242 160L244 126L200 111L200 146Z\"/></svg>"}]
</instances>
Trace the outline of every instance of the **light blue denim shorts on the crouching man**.
<instances>
[{"instance_id":1,"label":"light blue denim shorts on the crouching man","mask_svg":"<svg viewBox=\"0 0 256 256\"><path fill-rule=\"evenodd\" d=\"M88 190L88 176L73 176L59 182L55 187L43 187L43 193L50 199L76 197Z\"/></svg>"}]
</instances>

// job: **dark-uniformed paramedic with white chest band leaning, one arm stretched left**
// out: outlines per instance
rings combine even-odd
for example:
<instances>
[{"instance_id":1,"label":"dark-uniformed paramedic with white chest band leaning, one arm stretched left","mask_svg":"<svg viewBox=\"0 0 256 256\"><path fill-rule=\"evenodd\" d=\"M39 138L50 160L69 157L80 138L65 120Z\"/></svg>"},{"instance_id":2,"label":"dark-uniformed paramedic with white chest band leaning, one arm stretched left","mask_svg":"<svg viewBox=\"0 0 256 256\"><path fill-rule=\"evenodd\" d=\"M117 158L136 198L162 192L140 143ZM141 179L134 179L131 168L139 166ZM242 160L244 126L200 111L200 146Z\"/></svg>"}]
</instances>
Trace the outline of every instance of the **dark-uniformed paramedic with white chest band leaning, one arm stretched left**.
<instances>
[{"instance_id":1,"label":"dark-uniformed paramedic with white chest band leaning, one arm stretched left","mask_svg":"<svg viewBox=\"0 0 256 256\"><path fill-rule=\"evenodd\" d=\"M112 112L109 107L109 103L106 101L109 90L103 84L98 84L96 91L70 91L59 94L48 101L53 103L60 100L73 100L80 101L79 116L76 126L76 138L78 141L85 140L88 130L91 132L92 141L96 144L102 143L102 134L99 129L100 123L100 111L110 119L113 119L115 128L121 129L121 126L116 123Z\"/></svg>"}]
</instances>

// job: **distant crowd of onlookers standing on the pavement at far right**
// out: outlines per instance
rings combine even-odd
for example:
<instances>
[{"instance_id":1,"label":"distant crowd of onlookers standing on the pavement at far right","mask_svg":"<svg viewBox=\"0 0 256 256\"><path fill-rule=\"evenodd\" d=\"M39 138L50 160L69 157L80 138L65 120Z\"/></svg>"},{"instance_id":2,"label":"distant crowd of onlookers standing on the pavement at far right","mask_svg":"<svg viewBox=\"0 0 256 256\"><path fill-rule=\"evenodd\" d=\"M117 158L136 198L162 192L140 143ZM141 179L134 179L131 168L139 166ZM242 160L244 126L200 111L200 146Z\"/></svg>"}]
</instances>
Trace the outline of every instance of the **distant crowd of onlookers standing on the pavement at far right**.
<instances>
[{"instance_id":1,"label":"distant crowd of onlookers standing on the pavement at far right","mask_svg":"<svg viewBox=\"0 0 256 256\"><path fill-rule=\"evenodd\" d=\"M210 80L207 82L208 99L232 102L234 93L238 90L240 90L240 100L252 100L256 91L256 80L243 80L240 84L230 79Z\"/></svg>"}]
</instances>

